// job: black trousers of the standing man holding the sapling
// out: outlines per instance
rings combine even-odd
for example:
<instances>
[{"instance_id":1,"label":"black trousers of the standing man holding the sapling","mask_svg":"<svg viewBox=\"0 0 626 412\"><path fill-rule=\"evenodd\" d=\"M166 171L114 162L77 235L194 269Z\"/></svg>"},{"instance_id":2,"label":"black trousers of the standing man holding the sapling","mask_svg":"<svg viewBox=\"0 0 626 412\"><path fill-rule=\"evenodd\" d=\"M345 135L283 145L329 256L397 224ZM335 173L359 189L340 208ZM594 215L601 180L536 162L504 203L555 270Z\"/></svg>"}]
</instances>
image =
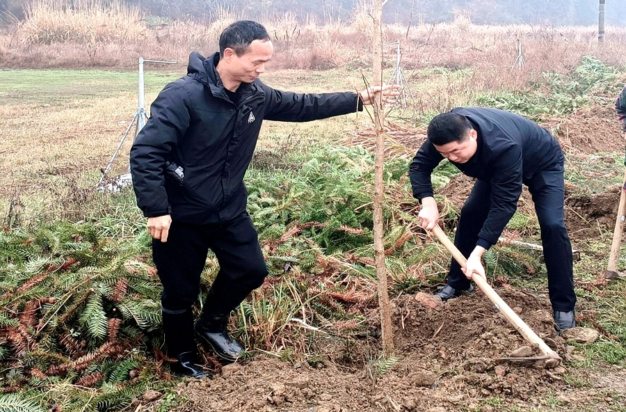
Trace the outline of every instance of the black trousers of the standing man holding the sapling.
<instances>
[{"instance_id":1,"label":"black trousers of the standing man holding the sapling","mask_svg":"<svg viewBox=\"0 0 626 412\"><path fill-rule=\"evenodd\" d=\"M202 318L229 314L268 274L257 230L246 212L210 225L172 222L168 241L152 239L163 285L163 330L170 356L195 350L191 307L200 294L200 274L209 249L220 270L204 301Z\"/></svg>"}]
</instances>

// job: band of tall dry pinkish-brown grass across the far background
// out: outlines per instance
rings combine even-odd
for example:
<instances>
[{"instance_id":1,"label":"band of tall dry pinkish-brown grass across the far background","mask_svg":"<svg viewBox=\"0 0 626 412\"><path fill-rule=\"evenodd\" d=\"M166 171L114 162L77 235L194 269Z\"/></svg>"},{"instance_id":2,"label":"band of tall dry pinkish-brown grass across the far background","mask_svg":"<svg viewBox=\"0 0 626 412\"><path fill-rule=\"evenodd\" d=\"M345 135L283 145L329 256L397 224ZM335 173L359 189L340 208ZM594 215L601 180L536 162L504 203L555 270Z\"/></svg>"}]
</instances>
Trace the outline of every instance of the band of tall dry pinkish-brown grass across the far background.
<instances>
[{"instance_id":1,"label":"band of tall dry pinkish-brown grass across the far background","mask_svg":"<svg viewBox=\"0 0 626 412\"><path fill-rule=\"evenodd\" d=\"M61 7L60 0L36 3L28 17L0 35L0 65L20 68L133 68L138 55L186 61L188 54L216 51L219 33L245 18L218 9L206 24L174 21L149 27L133 8L98 1ZM273 68L328 69L371 65L371 16L355 8L349 22L304 24L294 15L268 15L262 21L275 42ZM626 29L607 27L598 45L595 27L479 26L462 14L454 22L384 27L385 42L401 42L403 68L473 68L472 88L520 89L542 72L565 72L592 54L611 65L626 65ZM17 41L16 41L17 39ZM517 40L524 65L515 64ZM385 49L385 65L395 50Z\"/></svg>"}]
</instances>

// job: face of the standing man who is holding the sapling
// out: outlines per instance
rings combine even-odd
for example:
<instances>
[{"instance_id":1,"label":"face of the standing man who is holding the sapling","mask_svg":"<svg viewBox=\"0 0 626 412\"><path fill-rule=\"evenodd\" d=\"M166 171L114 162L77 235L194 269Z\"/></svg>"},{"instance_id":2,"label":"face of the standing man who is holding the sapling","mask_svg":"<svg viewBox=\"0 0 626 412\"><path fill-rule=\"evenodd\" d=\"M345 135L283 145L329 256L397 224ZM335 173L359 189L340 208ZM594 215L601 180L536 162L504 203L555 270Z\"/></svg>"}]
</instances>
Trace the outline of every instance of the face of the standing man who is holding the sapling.
<instances>
[{"instance_id":1,"label":"face of the standing man who is holding the sapling","mask_svg":"<svg viewBox=\"0 0 626 412\"><path fill-rule=\"evenodd\" d=\"M241 56L227 48L224 51L224 61L227 63L227 75L231 81L252 83L259 75L265 72L265 64L271 60L274 47L270 40L254 40L248 51Z\"/></svg>"}]
</instances>

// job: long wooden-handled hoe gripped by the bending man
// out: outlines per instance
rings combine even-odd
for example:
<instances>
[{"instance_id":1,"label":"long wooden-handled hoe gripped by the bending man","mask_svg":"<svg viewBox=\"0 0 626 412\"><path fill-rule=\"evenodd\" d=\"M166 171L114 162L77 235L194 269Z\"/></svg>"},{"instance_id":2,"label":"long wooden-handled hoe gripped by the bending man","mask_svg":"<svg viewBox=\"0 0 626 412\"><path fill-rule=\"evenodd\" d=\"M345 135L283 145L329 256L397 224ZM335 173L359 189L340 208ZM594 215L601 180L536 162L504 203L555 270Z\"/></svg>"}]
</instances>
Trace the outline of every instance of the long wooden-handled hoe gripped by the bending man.
<instances>
[{"instance_id":1,"label":"long wooden-handled hoe gripped by the bending man","mask_svg":"<svg viewBox=\"0 0 626 412\"><path fill-rule=\"evenodd\" d=\"M447 248L447 250L452 254L452 257L461 265L461 267L465 268L467 265L467 259L463 256L462 253L454 246L454 243L447 237L447 235L443 232L443 230L439 227L439 225L435 225L435 228L432 230L433 234L439 239L439 241ZM561 363L561 356L557 354L555 351L550 349L550 347L538 337L536 333L532 331L531 328L524 321L517 316L517 313L513 312L513 310L506 304L505 301L502 300L500 296L492 289L492 287L484 280L481 276L472 276L472 280L476 283L476 285L483 291L484 294L487 295L490 301L495 305L497 309L500 310L502 315L506 317L508 322L510 322L515 329L522 335L522 337L527 340L533 346L536 345L540 352L541 356L535 356L533 358L527 358L529 361L533 361L533 364L538 367L552 368L557 367ZM506 360L513 360L512 358L504 358ZM522 358L519 359L522 361Z\"/></svg>"}]
</instances>

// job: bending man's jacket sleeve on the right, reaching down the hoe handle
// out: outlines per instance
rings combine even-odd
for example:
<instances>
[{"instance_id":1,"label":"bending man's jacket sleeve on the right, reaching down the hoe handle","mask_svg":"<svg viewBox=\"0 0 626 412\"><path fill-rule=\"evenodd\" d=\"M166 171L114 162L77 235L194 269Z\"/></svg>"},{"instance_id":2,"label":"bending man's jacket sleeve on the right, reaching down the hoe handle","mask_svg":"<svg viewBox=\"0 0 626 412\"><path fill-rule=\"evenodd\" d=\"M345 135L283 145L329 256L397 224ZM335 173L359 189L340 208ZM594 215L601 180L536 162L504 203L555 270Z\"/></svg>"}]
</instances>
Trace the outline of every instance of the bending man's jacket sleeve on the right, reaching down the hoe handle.
<instances>
[{"instance_id":1,"label":"bending man's jacket sleeve on the right, reaching down the hoe handle","mask_svg":"<svg viewBox=\"0 0 626 412\"><path fill-rule=\"evenodd\" d=\"M517 209L517 200L522 194L522 149L517 145L505 148L492 168L489 213L476 242L487 249L496 244Z\"/></svg>"}]
</instances>

